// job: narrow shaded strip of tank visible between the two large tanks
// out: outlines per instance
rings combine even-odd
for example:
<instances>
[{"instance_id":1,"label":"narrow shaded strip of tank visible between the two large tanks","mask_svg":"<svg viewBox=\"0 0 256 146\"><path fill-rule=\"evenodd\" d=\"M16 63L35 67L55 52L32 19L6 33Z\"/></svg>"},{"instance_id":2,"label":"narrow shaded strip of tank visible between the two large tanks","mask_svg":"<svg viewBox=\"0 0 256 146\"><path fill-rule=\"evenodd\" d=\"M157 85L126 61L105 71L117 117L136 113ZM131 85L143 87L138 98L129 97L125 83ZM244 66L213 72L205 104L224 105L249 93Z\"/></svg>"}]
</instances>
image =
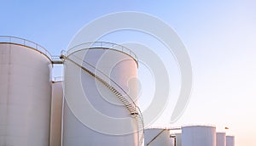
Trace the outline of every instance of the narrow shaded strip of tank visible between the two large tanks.
<instances>
[{"instance_id":1,"label":"narrow shaded strip of tank visible between the two large tanks","mask_svg":"<svg viewBox=\"0 0 256 146\"><path fill-rule=\"evenodd\" d=\"M61 146L62 81L53 81L49 146Z\"/></svg>"}]
</instances>

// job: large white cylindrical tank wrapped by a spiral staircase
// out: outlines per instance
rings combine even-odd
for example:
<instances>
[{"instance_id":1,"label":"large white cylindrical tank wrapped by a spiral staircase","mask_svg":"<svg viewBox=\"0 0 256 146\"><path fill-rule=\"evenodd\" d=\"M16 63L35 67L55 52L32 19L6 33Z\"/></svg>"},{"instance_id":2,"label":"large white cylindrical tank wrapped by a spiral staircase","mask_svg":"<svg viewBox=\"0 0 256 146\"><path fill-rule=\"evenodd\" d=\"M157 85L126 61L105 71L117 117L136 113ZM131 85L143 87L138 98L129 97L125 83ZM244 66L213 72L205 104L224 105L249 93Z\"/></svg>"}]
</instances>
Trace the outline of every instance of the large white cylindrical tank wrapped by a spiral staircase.
<instances>
[{"instance_id":1,"label":"large white cylindrical tank wrapped by a spiral staircase","mask_svg":"<svg viewBox=\"0 0 256 146\"><path fill-rule=\"evenodd\" d=\"M64 61L63 146L138 145L133 115L113 91L71 60L100 76L126 98L120 87L137 98L137 61L128 53L114 48L68 53Z\"/></svg>"}]
</instances>

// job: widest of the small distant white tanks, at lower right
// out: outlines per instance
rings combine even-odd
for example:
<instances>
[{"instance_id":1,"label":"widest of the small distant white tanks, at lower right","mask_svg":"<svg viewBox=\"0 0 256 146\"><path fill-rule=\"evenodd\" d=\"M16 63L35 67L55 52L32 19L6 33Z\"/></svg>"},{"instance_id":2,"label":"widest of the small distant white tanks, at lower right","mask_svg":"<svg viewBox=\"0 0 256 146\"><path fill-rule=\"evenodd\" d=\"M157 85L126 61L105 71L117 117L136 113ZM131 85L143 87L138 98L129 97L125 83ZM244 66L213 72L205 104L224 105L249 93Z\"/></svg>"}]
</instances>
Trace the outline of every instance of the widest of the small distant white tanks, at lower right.
<instances>
[{"instance_id":1,"label":"widest of the small distant white tanks, at lower right","mask_svg":"<svg viewBox=\"0 0 256 146\"><path fill-rule=\"evenodd\" d=\"M182 146L216 146L215 126L183 126Z\"/></svg>"}]
</instances>

